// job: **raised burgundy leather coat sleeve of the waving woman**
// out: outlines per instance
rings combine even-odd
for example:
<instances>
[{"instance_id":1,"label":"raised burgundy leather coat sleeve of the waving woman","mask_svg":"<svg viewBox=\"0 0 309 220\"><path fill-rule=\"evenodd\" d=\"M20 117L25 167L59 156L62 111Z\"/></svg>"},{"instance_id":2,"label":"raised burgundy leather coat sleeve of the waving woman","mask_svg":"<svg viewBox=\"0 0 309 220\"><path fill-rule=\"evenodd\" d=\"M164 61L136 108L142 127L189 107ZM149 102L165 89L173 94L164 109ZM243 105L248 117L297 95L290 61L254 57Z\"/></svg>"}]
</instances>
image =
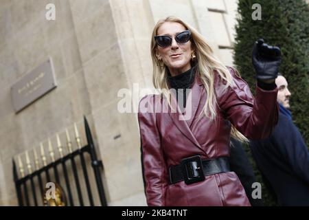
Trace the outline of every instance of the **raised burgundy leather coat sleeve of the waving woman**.
<instances>
[{"instance_id":1,"label":"raised burgundy leather coat sleeve of the waving woman","mask_svg":"<svg viewBox=\"0 0 309 220\"><path fill-rule=\"evenodd\" d=\"M247 83L232 68L229 72L233 78L233 85L229 87L218 76L215 78L220 110L247 138L260 140L268 137L278 121L277 88L264 90L257 86L253 98Z\"/></svg>"}]
</instances>

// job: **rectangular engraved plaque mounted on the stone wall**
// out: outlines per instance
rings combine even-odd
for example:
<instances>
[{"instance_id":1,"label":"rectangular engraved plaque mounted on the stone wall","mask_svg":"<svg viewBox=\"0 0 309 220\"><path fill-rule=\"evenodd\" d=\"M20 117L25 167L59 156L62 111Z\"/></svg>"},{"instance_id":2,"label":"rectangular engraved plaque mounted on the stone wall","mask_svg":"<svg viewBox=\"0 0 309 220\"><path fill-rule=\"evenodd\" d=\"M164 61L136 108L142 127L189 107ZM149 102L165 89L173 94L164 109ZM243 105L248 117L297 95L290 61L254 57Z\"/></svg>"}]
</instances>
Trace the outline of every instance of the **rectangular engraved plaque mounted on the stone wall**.
<instances>
[{"instance_id":1,"label":"rectangular engraved plaque mounted on the stone wall","mask_svg":"<svg viewBox=\"0 0 309 220\"><path fill-rule=\"evenodd\" d=\"M26 74L11 87L12 102L15 112L34 102L56 87L52 58Z\"/></svg>"}]
</instances>

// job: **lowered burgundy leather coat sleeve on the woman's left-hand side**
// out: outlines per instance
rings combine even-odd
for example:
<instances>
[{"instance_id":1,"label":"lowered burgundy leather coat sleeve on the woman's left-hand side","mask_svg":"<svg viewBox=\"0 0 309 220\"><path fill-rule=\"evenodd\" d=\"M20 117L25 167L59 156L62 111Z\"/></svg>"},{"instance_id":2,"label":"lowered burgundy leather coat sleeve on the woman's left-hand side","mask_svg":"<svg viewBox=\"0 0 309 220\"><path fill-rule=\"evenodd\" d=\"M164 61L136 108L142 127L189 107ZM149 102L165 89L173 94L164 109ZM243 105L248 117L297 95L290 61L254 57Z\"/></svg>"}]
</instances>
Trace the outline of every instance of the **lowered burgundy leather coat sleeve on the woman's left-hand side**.
<instances>
[{"instance_id":1,"label":"lowered burgundy leather coat sleeve on the woman's left-hand side","mask_svg":"<svg viewBox=\"0 0 309 220\"><path fill-rule=\"evenodd\" d=\"M145 96L139 102L139 133L141 135L141 166L148 206L165 206L168 169L157 129L156 113L152 111L154 96Z\"/></svg>"}]
</instances>

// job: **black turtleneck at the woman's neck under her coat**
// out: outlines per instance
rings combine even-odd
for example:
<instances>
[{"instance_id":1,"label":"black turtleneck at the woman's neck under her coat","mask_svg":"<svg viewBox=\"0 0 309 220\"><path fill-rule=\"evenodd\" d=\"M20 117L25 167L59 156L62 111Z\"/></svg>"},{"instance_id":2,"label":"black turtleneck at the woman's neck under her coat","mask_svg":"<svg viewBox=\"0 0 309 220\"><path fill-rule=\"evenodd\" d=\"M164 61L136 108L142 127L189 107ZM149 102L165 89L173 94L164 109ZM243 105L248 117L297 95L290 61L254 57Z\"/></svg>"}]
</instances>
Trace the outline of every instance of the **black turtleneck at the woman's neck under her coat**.
<instances>
[{"instance_id":1,"label":"black turtleneck at the woman's neck under her coat","mask_svg":"<svg viewBox=\"0 0 309 220\"><path fill-rule=\"evenodd\" d=\"M178 100L179 91L178 89L183 89L183 105L180 104L180 107L185 107L186 100L187 100L187 89L190 89L192 83L194 82L195 76L195 67L188 69L186 72L179 74L177 76L171 76L170 72L168 71L168 83L172 89L176 89L176 99Z\"/></svg>"}]
</instances>

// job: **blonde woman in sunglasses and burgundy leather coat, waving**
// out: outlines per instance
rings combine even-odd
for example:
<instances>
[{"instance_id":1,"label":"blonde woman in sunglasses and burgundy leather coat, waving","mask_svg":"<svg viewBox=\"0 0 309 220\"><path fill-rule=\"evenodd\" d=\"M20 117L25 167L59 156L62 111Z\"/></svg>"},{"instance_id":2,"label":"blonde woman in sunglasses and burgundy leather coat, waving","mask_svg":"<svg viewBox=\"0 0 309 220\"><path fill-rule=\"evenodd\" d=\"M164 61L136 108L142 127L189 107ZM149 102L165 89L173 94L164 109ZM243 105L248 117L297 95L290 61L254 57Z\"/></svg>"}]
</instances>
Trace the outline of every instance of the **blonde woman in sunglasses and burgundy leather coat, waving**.
<instances>
[{"instance_id":1,"label":"blonde woman in sunglasses and burgundy leather coat, waving","mask_svg":"<svg viewBox=\"0 0 309 220\"><path fill-rule=\"evenodd\" d=\"M138 113L148 206L250 206L229 169L230 135L271 134L278 117L279 48L262 39L253 47L255 98L203 36L176 17L155 25L151 52L161 94L142 98Z\"/></svg>"}]
</instances>

